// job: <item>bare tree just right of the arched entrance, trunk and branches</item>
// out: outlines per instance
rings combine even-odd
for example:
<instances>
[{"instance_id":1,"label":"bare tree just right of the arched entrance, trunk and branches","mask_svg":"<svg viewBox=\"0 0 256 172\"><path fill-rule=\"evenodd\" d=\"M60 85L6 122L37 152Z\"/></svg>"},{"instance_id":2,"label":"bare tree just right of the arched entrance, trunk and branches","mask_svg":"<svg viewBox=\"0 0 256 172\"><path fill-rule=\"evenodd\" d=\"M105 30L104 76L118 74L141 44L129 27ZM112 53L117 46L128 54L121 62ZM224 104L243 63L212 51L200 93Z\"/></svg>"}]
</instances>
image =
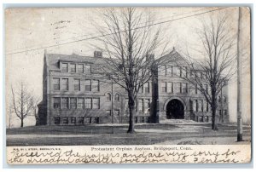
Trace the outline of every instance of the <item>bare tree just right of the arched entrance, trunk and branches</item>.
<instances>
[{"instance_id":1,"label":"bare tree just right of the arched entrance, trunk and branches","mask_svg":"<svg viewBox=\"0 0 256 172\"><path fill-rule=\"evenodd\" d=\"M236 51L233 49L236 41L227 14L219 13L215 18L211 15L208 22L201 23L202 28L198 32L201 48L197 52L202 60L193 60L187 54L190 75L183 75L183 79L192 83L204 95L212 110L212 129L218 130L217 97L236 73Z\"/></svg>"}]
</instances>

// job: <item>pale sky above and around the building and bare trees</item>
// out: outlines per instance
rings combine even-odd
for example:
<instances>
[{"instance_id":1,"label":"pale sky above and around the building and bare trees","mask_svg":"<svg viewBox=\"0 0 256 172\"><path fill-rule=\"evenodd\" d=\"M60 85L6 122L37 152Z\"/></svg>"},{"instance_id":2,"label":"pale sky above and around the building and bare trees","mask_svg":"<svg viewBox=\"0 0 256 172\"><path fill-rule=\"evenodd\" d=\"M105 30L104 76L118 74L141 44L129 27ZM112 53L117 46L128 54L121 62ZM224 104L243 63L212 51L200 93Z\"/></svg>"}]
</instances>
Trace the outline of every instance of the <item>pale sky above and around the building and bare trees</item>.
<instances>
[{"instance_id":1,"label":"pale sky above and around the building and bare trees","mask_svg":"<svg viewBox=\"0 0 256 172\"><path fill-rule=\"evenodd\" d=\"M196 29L201 20L217 13L230 14L230 30L237 32L237 8L221 9L205 13L216 8L148 8L154 14L154 22L172 20L158 25L163 28L164 36L170 41L171 47L177 52L189 50L199 42ZM5 11L5 67L6 67L6 103L11 98L10 88L16 87L20 80L25 81L28 89L38 96L43 93L44 51L53 54L93 55L96 43L88 37L99 35L94 27L95 22L101 25L99 14L103 9L96 8L51 8L51 9L6 9ZM144 10L140 8L138 10ZM242 80L242 115L244 121L250 120L250 33L248 9L243 9L241 20L241 39L243 49L243 80ZM196 15L195 15L196 14ZM197 15L198 14L198 15ZM190 15L195 15L191 16ZM189 17L188 17L189 16ZM183 18L183 19L182 19ZM71 43L70 43L71 42ZM193 53L192 53L193 54ZM196 54L195 54L196 59ZM236 122L236 79L229 85L230 120ZM9 126L9 113L7 113ZM18 118L11 115L11 127L20 125ZM33 117L26 118L25 125L33 125Z\"/></svg>"}]
</instances>

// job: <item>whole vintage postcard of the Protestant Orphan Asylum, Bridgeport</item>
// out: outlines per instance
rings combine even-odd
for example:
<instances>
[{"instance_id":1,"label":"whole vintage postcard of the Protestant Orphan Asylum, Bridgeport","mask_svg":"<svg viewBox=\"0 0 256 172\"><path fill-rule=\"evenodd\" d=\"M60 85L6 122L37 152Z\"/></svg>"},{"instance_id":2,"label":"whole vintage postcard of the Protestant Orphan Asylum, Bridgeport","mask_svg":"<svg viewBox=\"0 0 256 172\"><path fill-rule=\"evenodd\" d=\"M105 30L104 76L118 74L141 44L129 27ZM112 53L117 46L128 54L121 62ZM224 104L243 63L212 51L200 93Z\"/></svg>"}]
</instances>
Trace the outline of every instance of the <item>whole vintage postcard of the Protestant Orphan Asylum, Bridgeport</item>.
<instances>
[{"instance_id":1,"label":"whole vintage postcard of the Protestant Orphan Asylum, Bridgeport","mask_svg":"<svg viewBox=\"0 0 256 172\"><path fill-rule=\"evenodd\" d=\"M248 7L9 8L9 164L250 163Z\"/></svg>"}]
</instances>

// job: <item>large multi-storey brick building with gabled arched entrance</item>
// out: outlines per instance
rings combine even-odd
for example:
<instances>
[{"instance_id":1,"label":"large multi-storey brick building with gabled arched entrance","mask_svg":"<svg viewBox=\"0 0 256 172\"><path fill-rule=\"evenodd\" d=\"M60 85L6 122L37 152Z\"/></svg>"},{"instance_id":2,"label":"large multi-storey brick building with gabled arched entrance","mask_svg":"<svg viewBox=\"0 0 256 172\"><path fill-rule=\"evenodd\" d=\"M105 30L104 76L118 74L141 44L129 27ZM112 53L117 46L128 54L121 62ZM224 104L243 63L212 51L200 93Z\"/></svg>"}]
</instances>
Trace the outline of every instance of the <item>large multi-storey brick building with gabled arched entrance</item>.
<instances>
[{"instance_id":1,"label":"large multi-storey brick building with gabled arched entrance","mask_svg":"<svg viewBox=\"0 0 256 172\"><path fill-rule=\"evenodd\" d=\"M183 60L175 49L163 58ZM93 57L77 54L44 54L43 100L38 105L38 124L83 125L86 123L128 123L128 97L119 85L100 73L102 52ZM176 64L176 65L175 65ZM158 72L159 119L188 119L210 122L210 106L199 90L181 78L186 66L167 64ZM203 77L199 70L198 74ZM113 93L112 93L113 86ZM208 87L207 85L205 85ZM217 119L223 111L229 120L227 89L218 96ZM112 100L113 99L113 100ZM143 85L137 99L136 123L148 123L152 83ZM113 103L113 106L112 106ZM112 111L113 110L113 116Z\"/></svg>"}]
</instances>

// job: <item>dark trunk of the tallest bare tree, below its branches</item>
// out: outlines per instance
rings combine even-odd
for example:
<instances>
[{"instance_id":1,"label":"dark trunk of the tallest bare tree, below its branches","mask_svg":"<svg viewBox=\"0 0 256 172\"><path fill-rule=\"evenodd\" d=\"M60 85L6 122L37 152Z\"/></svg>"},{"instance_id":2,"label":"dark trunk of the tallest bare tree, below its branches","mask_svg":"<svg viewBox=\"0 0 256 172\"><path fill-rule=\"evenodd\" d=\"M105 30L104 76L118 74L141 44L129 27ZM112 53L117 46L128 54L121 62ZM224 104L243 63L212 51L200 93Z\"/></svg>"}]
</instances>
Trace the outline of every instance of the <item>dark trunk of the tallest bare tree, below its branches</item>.
<instances>
[{"instance_id":1,"label":"dark trunk of the tallest bare tree, below its branches","mask_svg":"<svg viewBox=\"0 0 256 172\"><path fill-rule=\"evenodd\" d=\"M128 105L129 105L130 118L129 118L129 128L128 128L127 133L134 134L134 133L136 133L134 130L135 99L134 99L134 95L133 95L132 91L128 92L128 96L129 96Z\"/></svg>"}]
</instances>

